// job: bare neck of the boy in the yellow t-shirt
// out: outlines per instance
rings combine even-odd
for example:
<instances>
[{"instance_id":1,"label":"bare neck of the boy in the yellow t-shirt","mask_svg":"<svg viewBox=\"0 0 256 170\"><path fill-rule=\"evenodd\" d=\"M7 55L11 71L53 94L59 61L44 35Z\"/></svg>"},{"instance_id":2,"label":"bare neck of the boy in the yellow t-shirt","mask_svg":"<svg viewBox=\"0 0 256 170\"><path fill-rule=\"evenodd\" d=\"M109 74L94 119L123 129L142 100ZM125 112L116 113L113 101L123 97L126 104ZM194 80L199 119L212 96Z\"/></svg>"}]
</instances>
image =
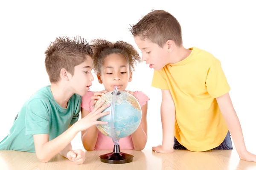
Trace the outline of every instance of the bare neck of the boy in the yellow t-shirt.
<instances>
[{"instance_id":1,"label":"bare neck of the boy in the yellow t-shirt","mask_svg":"<svg viewBox=\"0 0 256 170\"><path fill-rule=\"evenodd\" d=\"M170 56L172 57L170 57L169 64L175 64L182 61L183 59L186 59L186 57L191 54L191 51L192 50L183 47L183 45L181 47L174 48L172 53L170 54Z\"/></svg>"}]
</instances>

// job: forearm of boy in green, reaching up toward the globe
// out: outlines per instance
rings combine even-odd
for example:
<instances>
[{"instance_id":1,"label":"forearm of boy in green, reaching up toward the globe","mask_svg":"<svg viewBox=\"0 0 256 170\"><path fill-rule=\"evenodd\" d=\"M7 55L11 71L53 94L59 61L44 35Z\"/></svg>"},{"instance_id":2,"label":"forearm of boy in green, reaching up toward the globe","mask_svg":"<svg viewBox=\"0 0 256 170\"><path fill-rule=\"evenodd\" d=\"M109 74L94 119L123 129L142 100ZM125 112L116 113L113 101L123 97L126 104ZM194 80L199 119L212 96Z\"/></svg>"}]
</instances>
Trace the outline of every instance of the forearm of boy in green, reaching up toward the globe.
<instances>
[{"instance_id":1,"label":"forearm of boy in green, reaching up toward the globe","mask_svg":"<svg viewBox=\"0 0 256 170\"><path fill-rule=\"evenodd\" d=\"M60 153L62 150L68 150L71 147L71 140L74 139L78 132L79 131L76 129L76 126L71 126L60 136L56 137L55 139L52 139L49 142L46 142L40 148L36 148L36 154L38 156L38 159L47 162L50 159L52 159L53 156ZM68 146L69 144L70 146Z\"/></svg>"}]
</instances>

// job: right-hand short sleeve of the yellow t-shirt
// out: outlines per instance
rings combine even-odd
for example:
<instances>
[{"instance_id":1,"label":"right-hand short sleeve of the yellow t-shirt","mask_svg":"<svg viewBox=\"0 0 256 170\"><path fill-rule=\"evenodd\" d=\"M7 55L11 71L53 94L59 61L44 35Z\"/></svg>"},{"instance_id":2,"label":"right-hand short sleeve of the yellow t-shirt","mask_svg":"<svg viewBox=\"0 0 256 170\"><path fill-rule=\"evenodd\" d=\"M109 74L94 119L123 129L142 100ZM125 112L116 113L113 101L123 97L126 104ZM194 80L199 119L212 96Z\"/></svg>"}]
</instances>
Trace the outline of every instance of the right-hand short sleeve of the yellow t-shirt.
<instances>
[{"instance_id":1,"label":"right-hand short sleeve of the yellow t-shirt","mask_svg":"<svg viewBox=\"0 0 256 170\"><path fill-rule=\"evenodd\" d=\"M221 62L216 58L208 70L205 85L207 87L208 93L213 98L222 96L230 91L227 78L221 68Z\"/></svg>"}]
</instances>

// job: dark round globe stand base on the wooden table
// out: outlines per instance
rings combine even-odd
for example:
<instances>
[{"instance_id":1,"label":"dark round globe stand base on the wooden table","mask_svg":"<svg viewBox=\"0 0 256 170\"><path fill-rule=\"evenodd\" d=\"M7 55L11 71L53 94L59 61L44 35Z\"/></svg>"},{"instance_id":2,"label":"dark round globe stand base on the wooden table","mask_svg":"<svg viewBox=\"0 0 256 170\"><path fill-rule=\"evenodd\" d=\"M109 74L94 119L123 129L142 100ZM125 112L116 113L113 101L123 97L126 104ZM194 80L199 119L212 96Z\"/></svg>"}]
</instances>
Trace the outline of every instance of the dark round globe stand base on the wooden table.
<instances>
[{"instance_id":1,"label":"dark round globe stand base on the wooden table","mask_svg":"<svg viewBox=\"0 0 256 170\"><path fill-rule=\"evenodd\" d=\"M113 152L101 155L99 157L100 161L107 164L125 164L132 162L132 159L134 158L133 155L120 152L119 144L114 145Z\"/></svg>"}]
</instances>

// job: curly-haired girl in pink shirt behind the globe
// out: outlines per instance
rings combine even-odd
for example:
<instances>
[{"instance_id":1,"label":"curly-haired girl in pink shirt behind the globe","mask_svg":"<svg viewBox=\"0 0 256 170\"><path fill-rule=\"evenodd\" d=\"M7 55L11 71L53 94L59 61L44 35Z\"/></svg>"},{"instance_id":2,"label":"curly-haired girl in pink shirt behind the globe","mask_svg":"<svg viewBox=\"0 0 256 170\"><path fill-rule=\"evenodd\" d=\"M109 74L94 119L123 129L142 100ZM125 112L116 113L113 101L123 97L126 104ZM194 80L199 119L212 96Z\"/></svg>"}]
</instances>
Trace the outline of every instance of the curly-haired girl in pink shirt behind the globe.
<instances>
[{"instance_id":1,"label":"curly-haired girl in pink shirt behind the globe","mask_svg":"<svg viewBox=\"0 0 256 170\"><path fill-rule=\"evenodd\" d=\"M119 91L125 91L128 82L131 82L132 71L140 56L134 47L127 42L115 43L107 40L94 40L93 69L96 72L99 83L105 90L100 92L87 91L82 97L81 118L87 116L93 110L96 101L108 91L113 91L117 86ZM141 91L128 91L134 95L142 109L142 120L137 130L125 138L119 140L121 150L143 150L147 142L147 110L148 96ZM82 143L85 150L113 150L114 143L111 137L102 134L96 126L92 126L81 132Z\"/></svg>"}]
</instances>

